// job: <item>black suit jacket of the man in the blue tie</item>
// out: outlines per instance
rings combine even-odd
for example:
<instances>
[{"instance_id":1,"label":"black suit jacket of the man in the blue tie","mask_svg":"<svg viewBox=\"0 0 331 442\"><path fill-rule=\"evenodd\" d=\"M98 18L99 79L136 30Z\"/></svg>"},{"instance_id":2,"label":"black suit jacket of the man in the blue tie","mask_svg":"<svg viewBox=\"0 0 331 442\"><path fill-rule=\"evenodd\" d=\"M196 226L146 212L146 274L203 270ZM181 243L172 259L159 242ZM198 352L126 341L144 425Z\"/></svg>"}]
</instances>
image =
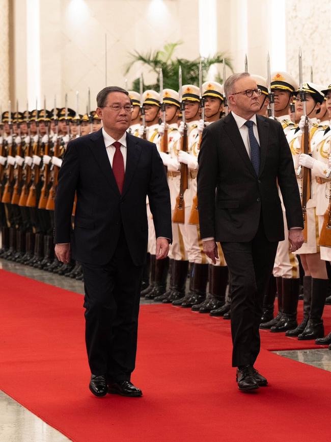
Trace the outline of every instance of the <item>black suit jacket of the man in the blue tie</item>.
<instances>
[{"instance_id":1,"label":"black suit jacket of the man in the blue tie","mask_svg":"<svg viewBox=\"0 0 331 442\"><path fill-rule=\"evenodd\" d=\"M282 125L257 115L260 170L255 173L231 115L208 126L199 153L198 205L201 238L251 241L263 226L269 241L284 239L281 189L288 228L304 227L293 160Z\"/></svg>"}]
</instances>

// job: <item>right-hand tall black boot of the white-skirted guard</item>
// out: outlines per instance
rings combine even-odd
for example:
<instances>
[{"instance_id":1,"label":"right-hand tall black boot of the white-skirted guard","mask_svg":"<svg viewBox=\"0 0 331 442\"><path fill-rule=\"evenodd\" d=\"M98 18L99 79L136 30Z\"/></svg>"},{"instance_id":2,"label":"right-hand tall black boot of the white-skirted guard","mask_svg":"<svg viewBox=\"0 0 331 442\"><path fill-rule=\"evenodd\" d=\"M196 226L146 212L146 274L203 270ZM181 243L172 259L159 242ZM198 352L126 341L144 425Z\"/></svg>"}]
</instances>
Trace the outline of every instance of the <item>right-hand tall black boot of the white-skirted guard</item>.
<instances>
[{"instance_id":1,"label":"right-hand tall black boot of the white-skirted guard","mask_svg":"<svg viewBox=\"0 0 331 442\"><path fill-rule=\"evenodd\" d=\"M312 303L305 330L298 335L299 340L316 339L324 336L322 314L324 310L327 279L312 278Z\"/></svg>"}]
</instances>

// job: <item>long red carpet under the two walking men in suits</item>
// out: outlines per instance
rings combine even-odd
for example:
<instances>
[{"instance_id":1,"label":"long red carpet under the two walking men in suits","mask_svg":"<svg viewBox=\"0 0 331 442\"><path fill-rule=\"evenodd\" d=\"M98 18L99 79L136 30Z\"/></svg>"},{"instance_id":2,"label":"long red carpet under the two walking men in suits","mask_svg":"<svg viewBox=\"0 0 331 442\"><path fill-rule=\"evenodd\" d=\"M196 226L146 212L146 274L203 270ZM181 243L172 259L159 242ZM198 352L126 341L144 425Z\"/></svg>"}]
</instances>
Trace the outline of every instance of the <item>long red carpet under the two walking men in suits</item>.
<instances>
[{"instance_id":1,"label":"long red carpet under the two walking men in suits","mask_svg":"<svg viewBox=\"0 0 331 442\"><path fill-rule=\"evenodd\" d=\"M5 271L0 280L0 387L76 442L330 438L330 373L262 350L257 368L269 386L242 394L229 322L171 306L141 309L132 380L143 398L94 398L82 296Z\"/></svg>"}]
</instances>

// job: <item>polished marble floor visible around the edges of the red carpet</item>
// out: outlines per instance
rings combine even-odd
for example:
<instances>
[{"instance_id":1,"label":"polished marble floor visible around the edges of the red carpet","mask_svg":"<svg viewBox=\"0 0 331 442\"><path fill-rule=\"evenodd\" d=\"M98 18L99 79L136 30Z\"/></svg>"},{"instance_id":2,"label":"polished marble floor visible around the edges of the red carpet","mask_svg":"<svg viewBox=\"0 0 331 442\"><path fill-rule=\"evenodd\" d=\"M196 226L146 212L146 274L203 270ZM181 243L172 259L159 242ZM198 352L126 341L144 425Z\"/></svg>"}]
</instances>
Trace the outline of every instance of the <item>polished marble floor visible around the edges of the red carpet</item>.
<instances>
[{"instance_id":1,"label":"polished marble floor visible around the edges of the red carpet","mask_svg":"<svg viewBox=\"0 0 331 442\"><path fill-rule=\"evenodd\" d=\"M84 284L81 281L3 259L0 259L0 268L76 293L84 293ZM152 302L142 300L144 304ZM331 351L327 349L275 353L331 372ZM64 442L66 440L69 439L0 391L0 442Z\"/></svg>"}]
</instances>

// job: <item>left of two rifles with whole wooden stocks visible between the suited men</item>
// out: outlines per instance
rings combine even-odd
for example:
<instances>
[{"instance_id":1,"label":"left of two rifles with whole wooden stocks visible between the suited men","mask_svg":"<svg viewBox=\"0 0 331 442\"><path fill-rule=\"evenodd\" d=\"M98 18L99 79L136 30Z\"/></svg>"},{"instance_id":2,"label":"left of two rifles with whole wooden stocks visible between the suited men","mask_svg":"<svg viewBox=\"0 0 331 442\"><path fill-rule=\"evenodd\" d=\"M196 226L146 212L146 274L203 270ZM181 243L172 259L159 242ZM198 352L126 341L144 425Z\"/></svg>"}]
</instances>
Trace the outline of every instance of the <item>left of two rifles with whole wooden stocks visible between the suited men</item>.
<instances>
[{"instance_id":1,"label":"left of two rifles with whole wooden stocks visible between the suited men","mask_svg":"<svg viewBox=\"0 0 331 442\"><path fill-rule=\"evenodd\" d=\"M182 92L182 70L179 67L179 99L181 102L182 120L184 123L184 132L181 138L181 150L187 152L187 125L185 122L185 102L183 101ZM176 198L176 207L173 214L173 223L184 224L185 223L185 203L184 192L188 188L188 167L187 164L180 164L180 186L179 195Z\"/></svg>"}]
</instances>

